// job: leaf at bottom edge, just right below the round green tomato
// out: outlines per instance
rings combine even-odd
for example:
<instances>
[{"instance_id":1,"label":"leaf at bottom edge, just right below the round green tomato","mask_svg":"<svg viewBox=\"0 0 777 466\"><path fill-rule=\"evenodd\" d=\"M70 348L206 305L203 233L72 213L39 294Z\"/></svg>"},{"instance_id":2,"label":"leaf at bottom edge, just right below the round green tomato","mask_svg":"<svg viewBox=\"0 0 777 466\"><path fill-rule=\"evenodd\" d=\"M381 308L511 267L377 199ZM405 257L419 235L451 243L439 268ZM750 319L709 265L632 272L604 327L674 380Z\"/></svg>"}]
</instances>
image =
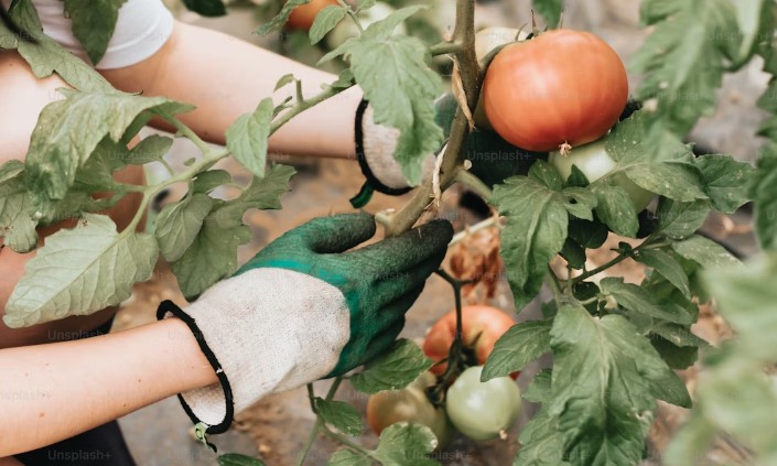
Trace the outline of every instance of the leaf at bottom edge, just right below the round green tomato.
<instances>
[{"instance_id":1,"label":"leaf at bottom edge, just right below the round green tomato","mask_svg":"<svg viewBox=\"0 0 777 466\"><path fill-rule=\"evenodd\" d=\"M518 437L521 447L512 466L570 466L558 420L548 411L543 405L521 431Z\"/></svg>"}]
</instances>

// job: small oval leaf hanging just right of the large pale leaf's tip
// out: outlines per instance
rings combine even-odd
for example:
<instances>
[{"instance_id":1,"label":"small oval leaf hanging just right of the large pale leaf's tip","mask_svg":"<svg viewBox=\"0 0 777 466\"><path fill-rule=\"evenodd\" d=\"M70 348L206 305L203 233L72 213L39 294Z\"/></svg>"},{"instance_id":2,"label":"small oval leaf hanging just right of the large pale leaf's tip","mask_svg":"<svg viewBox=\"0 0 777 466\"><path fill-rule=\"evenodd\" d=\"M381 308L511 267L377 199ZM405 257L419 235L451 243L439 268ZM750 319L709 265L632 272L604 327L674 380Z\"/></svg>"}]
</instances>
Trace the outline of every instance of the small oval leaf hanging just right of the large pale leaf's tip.
<instances>
[{"instance_id":1,"label":"small oval leaf hanging just right of the large pale leaf's tip","mask_svg":"<svg viewBox=\"0 0 777 466\"><path fill-rule=\"evenodd\" d=\"M165 260L174 262L192 246L211 213L213 199L195 193L183 201L165 206L157 217L154 235Z\"/></svg>"}]
</instances>

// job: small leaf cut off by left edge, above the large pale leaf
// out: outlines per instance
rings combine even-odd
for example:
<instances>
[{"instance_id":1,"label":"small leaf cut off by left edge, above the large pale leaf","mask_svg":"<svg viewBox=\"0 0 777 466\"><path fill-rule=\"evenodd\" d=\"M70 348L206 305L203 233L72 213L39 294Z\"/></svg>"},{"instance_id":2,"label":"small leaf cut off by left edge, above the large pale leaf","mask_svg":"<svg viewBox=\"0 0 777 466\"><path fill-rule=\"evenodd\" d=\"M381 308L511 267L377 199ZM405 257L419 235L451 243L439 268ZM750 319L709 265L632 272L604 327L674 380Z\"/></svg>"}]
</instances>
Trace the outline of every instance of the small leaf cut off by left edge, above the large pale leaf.
<instances>
[{"instance_id":1,"label":"small leaf cut off by left edge, above the large pale leaf","mask_svg":"<svg viewBox=\"0 0 777 466\"><path fill-rule=\"evenodd\" d=\"M32 199L24 182L24 164L11 160L0 166L0 238L17 252L30 252L37 245Z\"/></svg>"}]
</instances>

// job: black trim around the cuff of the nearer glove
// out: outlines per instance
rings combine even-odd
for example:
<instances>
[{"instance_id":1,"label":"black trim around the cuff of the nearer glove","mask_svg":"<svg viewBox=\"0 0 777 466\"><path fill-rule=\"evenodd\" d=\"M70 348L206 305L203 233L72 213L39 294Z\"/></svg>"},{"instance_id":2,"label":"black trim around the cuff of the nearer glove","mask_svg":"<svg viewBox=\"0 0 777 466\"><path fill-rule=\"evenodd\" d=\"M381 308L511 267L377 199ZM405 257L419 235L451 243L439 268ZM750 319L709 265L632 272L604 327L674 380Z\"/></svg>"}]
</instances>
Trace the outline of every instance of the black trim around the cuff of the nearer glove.
<instances>
[{"instance_id":1,"label":"black trim around the cuff of the nearer glove","mask_svg":"<svg viewBox=\"0 0 777 466\"><path fill-rule=\"evenodd\" d=\"M224 373L222 365L218 362L218 358L216 358L216 355L207 345L207 342L205 342L205 336L203 336L202 330L194 322L194 319L170 300L165 300L160 303L159 308L157 310L157 319L162 321L168 313L183 321L183 323L186 324L188 329L192 330L194 338L197 340L197 345L199 345L199 349L203 351L208 362L211 362L213 370L216 372L216 377L218 377L218 382L222 384L222 390L224 390L224 398L226 401L226 414L222 423L216 425L209 425L206 432L208 434L224 433L229 430L229 426L231 425L233 420L235 418L235 402L233 400L233 391L231 387L229 386L227 375ZM203 422L194 414L192 408L186 403L181 393L179 393L179 401L181 401L181 407L183 407L183 410L186 412L192 422L194 422L195 424Z\"/></svg>"}]
</instances>

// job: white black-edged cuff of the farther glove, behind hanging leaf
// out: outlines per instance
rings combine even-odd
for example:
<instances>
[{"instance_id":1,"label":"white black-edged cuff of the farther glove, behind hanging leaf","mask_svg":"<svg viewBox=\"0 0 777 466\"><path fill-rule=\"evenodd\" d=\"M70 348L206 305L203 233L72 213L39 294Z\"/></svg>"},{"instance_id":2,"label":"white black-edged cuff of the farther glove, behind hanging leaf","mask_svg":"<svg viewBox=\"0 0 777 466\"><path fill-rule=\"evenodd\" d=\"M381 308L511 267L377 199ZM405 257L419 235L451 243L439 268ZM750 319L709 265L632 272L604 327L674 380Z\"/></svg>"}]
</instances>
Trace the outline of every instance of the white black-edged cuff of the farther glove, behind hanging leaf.
<instances>
[{"instance_id":1,"label":"white black-edged cuff of the farther glove, behind hanging leaf","mask_svg":"<svg viewBox=\"0 0 777 466\"><path fill-rule=\"evenodd\" d=\"M400 131L396 128L377 124L373 120L373 108L361 100L356 109L356 159L367 183L375 191L399 196L412 189L404 180L402 169L393 159ZM434 155L424 162L424 175L434 169Z\"/></svg>"}]
</instances>

